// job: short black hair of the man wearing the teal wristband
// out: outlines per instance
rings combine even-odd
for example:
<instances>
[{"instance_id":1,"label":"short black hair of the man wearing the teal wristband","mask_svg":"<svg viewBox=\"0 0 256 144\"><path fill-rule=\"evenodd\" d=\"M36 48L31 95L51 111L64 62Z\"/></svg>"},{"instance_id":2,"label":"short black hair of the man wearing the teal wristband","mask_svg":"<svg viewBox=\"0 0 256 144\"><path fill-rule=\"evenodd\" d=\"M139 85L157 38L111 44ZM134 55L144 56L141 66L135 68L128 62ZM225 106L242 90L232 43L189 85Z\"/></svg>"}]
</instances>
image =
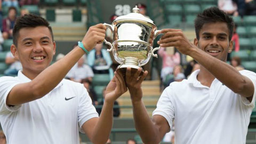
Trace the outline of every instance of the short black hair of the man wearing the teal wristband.
<instances>
[{"instance_id":1,"label":"short black hair of the man wearing the teal wristband","mask_svg":"<svg viewBox=\"0 0 256 144\"><path fill-rule=\"evenodd\" d=\"M25 14L23 17L17 18L15 21L15 25L13 28L13 44L17 46L18 44L18 37L19 37L19 31L22 28L35 28L38 26L45 26L47 27L52 36L52 41L53 41L53 33L52 33L52 28L50 27L50 24L48 21L46 21L44 18L35 15L35 14Z\"/></svg>"}]
</instances>

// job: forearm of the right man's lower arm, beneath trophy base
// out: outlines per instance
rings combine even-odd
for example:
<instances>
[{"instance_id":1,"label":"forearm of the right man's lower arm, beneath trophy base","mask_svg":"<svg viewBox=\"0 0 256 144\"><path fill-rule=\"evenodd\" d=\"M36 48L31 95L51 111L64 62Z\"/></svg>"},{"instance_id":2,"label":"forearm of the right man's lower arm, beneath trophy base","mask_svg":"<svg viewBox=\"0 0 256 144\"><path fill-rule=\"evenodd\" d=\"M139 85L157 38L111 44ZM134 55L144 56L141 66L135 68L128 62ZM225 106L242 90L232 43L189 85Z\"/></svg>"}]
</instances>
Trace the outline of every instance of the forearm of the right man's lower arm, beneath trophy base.
<instances>
[{"instance_id":1,"label":"forearm of the right man's lower arm, beneath trophy base","mask_svg":"<svg viewBox=\"0 0 256 144\"><path fill-rule=\"evenodd\" d=\"M151 121L142 100L132 102L132 105L135 128L142 141L144 143L159 143L161 141L158 135L159 130Z\"/></svg>"}]
</instances>

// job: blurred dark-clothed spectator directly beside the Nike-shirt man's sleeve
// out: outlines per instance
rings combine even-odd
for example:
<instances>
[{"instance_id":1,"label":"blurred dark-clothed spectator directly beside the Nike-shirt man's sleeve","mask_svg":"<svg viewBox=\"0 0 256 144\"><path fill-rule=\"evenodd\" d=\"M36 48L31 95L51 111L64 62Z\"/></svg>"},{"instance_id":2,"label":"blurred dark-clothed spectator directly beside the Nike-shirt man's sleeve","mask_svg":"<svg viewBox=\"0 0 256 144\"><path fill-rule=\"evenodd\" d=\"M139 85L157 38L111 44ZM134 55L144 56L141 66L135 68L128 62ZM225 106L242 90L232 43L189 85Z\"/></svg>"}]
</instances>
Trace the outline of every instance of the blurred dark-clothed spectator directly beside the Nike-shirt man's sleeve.
<instances>
[{"instance_id":1,"label":"blurred dark-clothed spectator directly beside the Nike-shirt man's sleeve","mask_svg":"<svg viewBox=\"0 0 256 144\"><path fill-rule=\"evenodd\" d=\"M98 105L99 102L98 102L97 94L95 93L95 91L92 89L92 86L91 86L92 82L88 78L84 78L84 79L82 79L81 83L84 84L85 89L89 93L89 95L92 99L92 104L94 106Z\"/></svg>"}]
</instances>

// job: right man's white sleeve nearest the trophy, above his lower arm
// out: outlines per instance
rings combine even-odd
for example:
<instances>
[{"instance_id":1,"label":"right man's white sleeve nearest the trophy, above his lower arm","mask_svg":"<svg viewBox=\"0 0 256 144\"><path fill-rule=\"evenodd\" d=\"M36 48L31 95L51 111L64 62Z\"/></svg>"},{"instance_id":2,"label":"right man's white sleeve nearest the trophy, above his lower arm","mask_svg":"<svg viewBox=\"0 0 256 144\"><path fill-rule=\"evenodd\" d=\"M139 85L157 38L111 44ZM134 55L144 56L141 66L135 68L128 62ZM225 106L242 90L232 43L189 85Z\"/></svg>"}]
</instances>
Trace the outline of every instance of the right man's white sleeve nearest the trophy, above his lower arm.
<instances>
[{"instance_id":1,"label":"right man's white sleeve nearest the trophy, above his lower arm","mask_svg":"<svg viewBox=\"0 0 256 144\"><path fill-rule=\"evenodd\" d=\"M156 109L153 111L153 116L154 115L161 115L163 116L166 121L168 122L169 126L172 128L172 122L174 119L174 101L171 98L171 93L172 93L172 87L169 86L167 87L161 97L159 98L157 105L156 105Z\"/></svg>"}]
</instances>

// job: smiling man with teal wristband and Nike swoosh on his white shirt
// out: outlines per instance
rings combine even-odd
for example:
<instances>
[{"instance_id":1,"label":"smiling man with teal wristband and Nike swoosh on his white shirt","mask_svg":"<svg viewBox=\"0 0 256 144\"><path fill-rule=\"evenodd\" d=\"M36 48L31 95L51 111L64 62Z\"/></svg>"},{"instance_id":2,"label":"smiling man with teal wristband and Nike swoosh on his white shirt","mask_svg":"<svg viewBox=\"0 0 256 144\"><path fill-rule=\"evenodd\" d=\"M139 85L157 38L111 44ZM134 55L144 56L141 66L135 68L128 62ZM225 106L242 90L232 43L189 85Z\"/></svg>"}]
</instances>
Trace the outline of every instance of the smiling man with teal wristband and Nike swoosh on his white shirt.
<instances>
[{"instance_id":1,"label":"smiling man with teal wristband and Nike swoosh on his white shirt","mask_svg":"<svg viewBox=\"0 0 256 144\"><path fill-rule=\"evenodd\" d=\"M11 52L22 64L17 77L0 78L0 122L7 143L79 143L79 130L93 143L106 143L114 101L127 89L116 73L98 116L82 84L63 79L75 63L105 39L106 27L92 26L79 46L50 66L55 54L52 29L29 14L17 19Z\"/></svg>"}]
</instances>

